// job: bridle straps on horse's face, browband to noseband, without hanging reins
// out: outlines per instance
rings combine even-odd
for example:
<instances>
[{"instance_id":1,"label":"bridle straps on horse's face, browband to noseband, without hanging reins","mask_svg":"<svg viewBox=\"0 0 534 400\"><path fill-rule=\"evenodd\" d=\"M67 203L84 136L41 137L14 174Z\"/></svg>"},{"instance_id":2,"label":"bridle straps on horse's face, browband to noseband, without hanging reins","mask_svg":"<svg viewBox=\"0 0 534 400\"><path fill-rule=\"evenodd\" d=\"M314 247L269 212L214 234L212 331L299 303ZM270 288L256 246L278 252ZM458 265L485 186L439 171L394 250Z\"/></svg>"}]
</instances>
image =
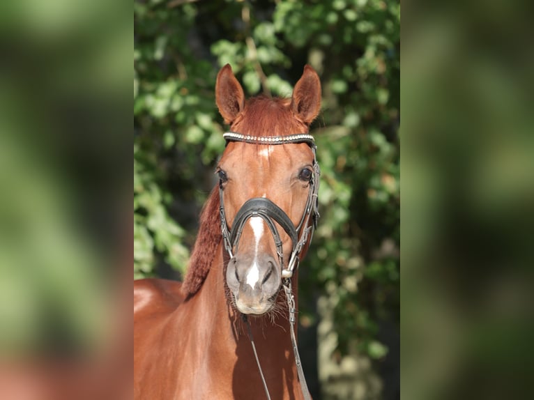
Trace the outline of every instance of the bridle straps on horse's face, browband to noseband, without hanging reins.
<instances>
[{"instance_id":1,"label":"bridle straps on horse's face, browband to noseband, without hanging reins","mask_svg":"<svg viewBox=\"0 0 534 400\"><path fill-rule=\"evenodd\" d=\"M319 164L316 160L316 146L314 138L311 134L289 134L287 136L274 136L274 137L255 137L247 136L236 132L227 132L223 135L227 143L229 141L241 141L248 144L264 144L264 145L277 145L277 144L295 144L305 143L312 148L313 151L313 176L310 180L310 191L306 201L306 206L303 211L303 216L300 218L300 222L297 226L293 225L288 215L277 206L273 201L266 199L265 197L255 197L245 201L243 206L238 210L236 217L234 218L234 224L230 228L224 213L224 201L222 199L222 182L219 185L220 194L220 220L222 240L224 242L224 248L228 252L230 258L234 256L234 251L238 251L239 239L245 223L252 217L261 217L270 229L275 240L276 252L278 261L282 268L282 277L290 278L293 276L293 270L298 268L300 262L299 255L303 247L312 240L314 229L316 228L317 221L319 220ZM312 224L310 224L310 218ZM282 229L291 238L291 255L289 256L289 262L287 267L284 268L284 252L282 250L282 240L280 239L280 233L275 225L275 222L282 226ZM300 239L299 239L300 236Z\"/></svg>"}]
</instances>

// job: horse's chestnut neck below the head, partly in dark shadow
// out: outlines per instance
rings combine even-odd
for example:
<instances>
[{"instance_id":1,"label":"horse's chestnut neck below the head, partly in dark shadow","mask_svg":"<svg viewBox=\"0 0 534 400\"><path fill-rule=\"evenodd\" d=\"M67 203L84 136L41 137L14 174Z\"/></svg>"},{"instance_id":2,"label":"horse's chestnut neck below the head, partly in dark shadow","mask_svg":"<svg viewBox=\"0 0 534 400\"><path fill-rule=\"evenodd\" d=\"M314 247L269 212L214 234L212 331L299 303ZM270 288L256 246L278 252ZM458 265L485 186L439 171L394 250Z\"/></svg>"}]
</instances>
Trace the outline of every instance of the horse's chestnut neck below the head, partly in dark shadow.
<instances>
[{"instance_id":1,"label":"horse's chestnut neck below the head, partly in dark shadow","mask_svg":"<svg viewBox=\"0 0 534 400\"><path fill-rule=\"evenodd\" d=\"M226 387L232 388L236 399L261 398L263 385L247 327L241 314L229 304L224 284L222 244L218 247L208 276L199 292L190 300L191 316L197 334L206 348L207 362L212 376L218 376ZM296 275L293 293L296 296ZM291 346L287 305L283 290L279 294L278 311L273 316L248 316L259 362L264 371L268 390L273 399L291 397L289 392L300 392L296 365ZM297 396L296 399L299 397Z\"/></svg>"}]
</instances>

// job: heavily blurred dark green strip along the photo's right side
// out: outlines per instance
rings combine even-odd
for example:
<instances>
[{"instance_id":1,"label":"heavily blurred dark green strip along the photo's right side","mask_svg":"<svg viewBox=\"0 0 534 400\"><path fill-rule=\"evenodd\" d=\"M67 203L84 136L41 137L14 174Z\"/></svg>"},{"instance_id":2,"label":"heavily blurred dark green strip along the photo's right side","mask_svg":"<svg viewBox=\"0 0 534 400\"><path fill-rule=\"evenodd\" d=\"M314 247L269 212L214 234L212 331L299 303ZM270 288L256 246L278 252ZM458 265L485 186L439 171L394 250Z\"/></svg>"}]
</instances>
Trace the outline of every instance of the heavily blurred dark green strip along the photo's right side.
<instances>
[{"instance_id":1,"label":"heavily blurred dark green strip along the photo's right side","mask_svg":"<svg viewBox=\"0 0 534 400\"><path fill-rule=\"evenodd\" d=\"M532 397L533 3L473 6L403 32L406 399Z\"/></svg>"}]
</instances>

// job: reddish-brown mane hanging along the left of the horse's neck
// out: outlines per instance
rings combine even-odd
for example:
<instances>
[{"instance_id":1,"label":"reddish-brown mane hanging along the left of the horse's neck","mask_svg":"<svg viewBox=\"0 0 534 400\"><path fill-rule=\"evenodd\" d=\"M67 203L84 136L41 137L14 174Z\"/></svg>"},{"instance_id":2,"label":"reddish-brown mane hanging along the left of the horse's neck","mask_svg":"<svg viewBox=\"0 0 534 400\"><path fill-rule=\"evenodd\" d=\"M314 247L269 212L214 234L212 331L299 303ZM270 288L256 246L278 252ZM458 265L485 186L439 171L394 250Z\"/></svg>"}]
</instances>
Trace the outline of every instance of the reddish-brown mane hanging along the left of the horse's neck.
<instances>
[{"instance_id":1,"label":"reddish-brown mane hanging along the left of the horse's neck","mask_svg":"<svg viewBox=\"0 0 534 400\"><path fill-rule=\"evenodd\" d=\"M222 239L219 207L219 189L215 186L200 213L199 233L181 289L186 298L197 293L204 283Z\"/></svg>"}]
</instances>

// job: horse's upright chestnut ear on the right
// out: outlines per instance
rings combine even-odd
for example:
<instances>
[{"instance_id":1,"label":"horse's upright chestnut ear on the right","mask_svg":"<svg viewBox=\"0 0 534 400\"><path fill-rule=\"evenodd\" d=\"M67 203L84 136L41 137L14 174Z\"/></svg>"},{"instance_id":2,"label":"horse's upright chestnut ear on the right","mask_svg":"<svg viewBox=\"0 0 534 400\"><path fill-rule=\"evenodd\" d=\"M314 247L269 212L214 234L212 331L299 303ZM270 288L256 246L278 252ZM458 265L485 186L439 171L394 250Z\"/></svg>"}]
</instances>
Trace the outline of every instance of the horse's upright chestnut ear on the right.
<instances>
[{"instance_id":1,"label":"horse's upright chestnut ear on the right","mask_svg":"<svg viewBox=\"0 0 534 400\"><path fill-rule=\"evenodd\" d=\"M310 124L321 110L321 82L317 72L305 66L291 98L293 113L304 123Z\"/></svg>"}]
</instances>

